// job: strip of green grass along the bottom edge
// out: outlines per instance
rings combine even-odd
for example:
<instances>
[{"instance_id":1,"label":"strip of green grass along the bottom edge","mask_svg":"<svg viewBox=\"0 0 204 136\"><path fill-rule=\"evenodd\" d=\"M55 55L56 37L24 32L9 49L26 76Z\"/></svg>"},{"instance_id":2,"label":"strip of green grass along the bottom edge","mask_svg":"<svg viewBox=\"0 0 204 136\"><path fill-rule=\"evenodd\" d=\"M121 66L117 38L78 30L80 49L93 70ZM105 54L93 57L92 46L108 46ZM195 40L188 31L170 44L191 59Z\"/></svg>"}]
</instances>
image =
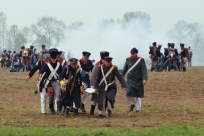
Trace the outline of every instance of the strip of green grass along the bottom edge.
<instances>
[{"instance_id":1,"label":"strip of green grass along the bottom edge","mask_svg":"<svg viewBox=\"0 0 204 136\"><path fill-rule=\"evenodd\" d=\"M170 125L163 125L159 128L133 130L130 127L119 128L100 128L100 129L87 129L81 128L36 128L36 127L5 127L0 128L0 136L203 136L204 128L196 129L186 124L178 127Z\"/></svg>"}]
</instances>

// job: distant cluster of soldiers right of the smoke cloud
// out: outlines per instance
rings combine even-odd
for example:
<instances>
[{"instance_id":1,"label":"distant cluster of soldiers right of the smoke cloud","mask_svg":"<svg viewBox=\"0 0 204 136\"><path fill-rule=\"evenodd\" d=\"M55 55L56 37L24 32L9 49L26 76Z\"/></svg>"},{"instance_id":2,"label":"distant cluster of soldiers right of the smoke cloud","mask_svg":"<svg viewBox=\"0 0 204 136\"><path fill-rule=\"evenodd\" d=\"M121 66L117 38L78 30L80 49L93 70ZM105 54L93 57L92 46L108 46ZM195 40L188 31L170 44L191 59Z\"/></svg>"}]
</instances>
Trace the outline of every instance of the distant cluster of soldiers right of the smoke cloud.
<instances>
[{"instance_id":1,"label":"distant cluster of soldiers right of the smoke cloud","mask_svg":"<svg viewBox=\"0 0 204 136\"><path fill-rule=\"evenodd\" d=\"M178 53L177 49L174 48L174 43L168 43L167 48L164 48L164 54L161 53L162 45L158 45L153 42L153 46L150 46L150 59L151 59L151 71L186 71L186 63L188 62L189 66L191 66L192 61L192 52L190 51L190 47L187 49L184 47L184 44L180 44L181 52ZM161 64L161 65L160 65Z\"/></svg>"}]
</instances>

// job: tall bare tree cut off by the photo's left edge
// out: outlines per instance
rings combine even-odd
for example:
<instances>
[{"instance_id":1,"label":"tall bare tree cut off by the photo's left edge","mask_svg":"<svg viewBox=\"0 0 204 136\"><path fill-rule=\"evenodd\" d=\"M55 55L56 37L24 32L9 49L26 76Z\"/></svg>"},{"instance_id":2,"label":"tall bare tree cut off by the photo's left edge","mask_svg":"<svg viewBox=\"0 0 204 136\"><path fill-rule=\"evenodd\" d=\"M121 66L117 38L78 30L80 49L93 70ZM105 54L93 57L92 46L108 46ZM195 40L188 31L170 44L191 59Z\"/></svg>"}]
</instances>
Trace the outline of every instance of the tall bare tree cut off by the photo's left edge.
<instances>
[{"instance_id":1,"label":"tall bare tree cut off by the photo's left edge","mask_svg":"<svg viewBox=\"0 0 204 136\"><path fill-rule=\"evenodd\" d=\"M6 15L3 12L0 12L0 44L2 48L6 47Z\"/></svg>"}]
</instances>

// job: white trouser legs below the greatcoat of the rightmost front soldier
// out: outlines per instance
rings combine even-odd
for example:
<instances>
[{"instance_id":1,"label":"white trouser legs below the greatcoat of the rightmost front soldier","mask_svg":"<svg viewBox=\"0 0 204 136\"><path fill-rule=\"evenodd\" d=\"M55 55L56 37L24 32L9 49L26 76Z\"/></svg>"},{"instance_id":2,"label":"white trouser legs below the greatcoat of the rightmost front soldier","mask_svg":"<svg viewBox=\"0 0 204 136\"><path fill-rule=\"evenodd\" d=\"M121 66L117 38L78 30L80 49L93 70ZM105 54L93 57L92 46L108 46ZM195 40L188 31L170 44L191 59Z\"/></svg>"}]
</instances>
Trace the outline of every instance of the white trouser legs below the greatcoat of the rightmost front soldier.
<instances>
[{"instance_id":1,"label":"white trouser legs below the greatcoat of the rightmost front soldier","mask_svg":"<svg viewBox=\"0 0 204 136\"><path fill-rule=\"evenodd\" d=\"M136 110L141 111L141 106L142 106L142 99L141 98L127 96L127 103L129 105L135 105Z\"/></svg>"}]
</instances>

